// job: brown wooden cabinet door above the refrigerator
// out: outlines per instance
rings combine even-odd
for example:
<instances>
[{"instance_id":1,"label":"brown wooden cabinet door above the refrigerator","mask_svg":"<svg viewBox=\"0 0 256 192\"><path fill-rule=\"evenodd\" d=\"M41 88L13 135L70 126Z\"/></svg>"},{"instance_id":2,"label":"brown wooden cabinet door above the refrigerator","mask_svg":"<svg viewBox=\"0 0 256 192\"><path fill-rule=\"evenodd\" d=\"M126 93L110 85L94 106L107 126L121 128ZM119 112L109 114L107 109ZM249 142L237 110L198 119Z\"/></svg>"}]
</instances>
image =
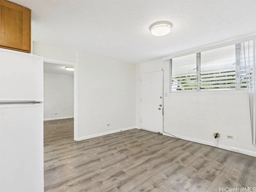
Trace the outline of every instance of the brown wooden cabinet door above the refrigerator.
<instances>
[{"instance_id":1,"label":"brown wooden cabinet door above the refrigerator","mask_svg":"<svg viewBox=\"0 0 256 192\"><path fill-rule=\"evenodd\" d=\"M31 52L31 10L0 0L0 47Z\"/></svg>"}]
</instances>

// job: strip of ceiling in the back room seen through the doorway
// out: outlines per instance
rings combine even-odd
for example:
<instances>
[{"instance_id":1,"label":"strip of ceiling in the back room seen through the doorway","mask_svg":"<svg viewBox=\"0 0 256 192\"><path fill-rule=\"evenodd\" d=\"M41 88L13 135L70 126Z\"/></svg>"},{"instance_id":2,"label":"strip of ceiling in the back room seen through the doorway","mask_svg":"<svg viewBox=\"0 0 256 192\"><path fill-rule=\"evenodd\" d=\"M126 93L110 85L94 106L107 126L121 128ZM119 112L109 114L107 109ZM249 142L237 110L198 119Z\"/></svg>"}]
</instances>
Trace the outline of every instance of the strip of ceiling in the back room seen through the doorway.
<instances>
[{"instance_id":1,"label":"strip of ceiling in the back room seen through the doorway","mask_svg":"<svg viewBox=\"0 0 256 192\"><path fill-rule=\"evenodd\" d=\"M66 65L44 62L44 73L74 75L74 71L67 71Z\"/></svg>"}]
</instances>

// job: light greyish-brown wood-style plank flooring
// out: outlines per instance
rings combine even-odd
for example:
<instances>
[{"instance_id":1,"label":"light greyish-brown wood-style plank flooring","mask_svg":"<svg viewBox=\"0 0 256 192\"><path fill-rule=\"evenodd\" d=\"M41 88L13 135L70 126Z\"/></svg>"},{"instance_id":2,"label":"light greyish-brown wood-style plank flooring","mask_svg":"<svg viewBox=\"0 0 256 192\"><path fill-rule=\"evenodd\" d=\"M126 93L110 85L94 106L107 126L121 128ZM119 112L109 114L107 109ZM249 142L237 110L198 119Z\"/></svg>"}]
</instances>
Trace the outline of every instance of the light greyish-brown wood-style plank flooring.
<instances>
[{"instance_id":1,"label":"light greyish-brown wood-style plank flooring","mask_svg":"<svg viewBox=\"0 0 256 192\"><path fill-rule=\"evenodd\" d=\"M256 158L144 130L74 141L44 122L45 192L219 192L256 187Z\"/></svg>"}]
</instances>

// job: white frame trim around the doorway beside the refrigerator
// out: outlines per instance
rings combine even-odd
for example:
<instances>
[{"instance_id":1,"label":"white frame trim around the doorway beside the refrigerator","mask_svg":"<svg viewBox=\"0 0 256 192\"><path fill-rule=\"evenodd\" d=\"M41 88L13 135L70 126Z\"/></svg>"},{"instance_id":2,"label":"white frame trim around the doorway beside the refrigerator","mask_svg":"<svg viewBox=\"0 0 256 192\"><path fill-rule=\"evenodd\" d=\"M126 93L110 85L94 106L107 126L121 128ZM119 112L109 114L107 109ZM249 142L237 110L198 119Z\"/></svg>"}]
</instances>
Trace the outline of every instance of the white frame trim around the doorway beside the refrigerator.
<instances>
[{"instance_id":1,"label":"white frame trim around the doorway beside the refrigerator","mask_svg":"<svg viewBox=\"0 0 256 192\"><path fill-rule=\"evenodd\" d=\"M55 59L44 58L44 62L68 65L74 67L74 140L77 141L77 114L78 114L78 92L77 92L77 84L78 84L78 62L67 62Z\"/></svg>"}]
</instances>

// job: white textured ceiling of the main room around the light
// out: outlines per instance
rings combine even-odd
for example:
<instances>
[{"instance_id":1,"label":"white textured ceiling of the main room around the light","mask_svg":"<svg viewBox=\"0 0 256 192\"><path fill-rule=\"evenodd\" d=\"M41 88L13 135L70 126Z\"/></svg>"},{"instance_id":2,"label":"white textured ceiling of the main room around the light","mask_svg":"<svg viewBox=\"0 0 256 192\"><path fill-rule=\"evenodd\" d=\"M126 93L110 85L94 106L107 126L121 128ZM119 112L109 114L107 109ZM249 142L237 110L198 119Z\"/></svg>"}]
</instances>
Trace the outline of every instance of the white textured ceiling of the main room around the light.
<instances>
[{"instance_id":1,"label":"white textured ceiling of the main room around the light","mask_svg":"<svg viewBox=\"0 0 256 192\"><path fill-rule=\"evenodd\" d=\"M32 40L131 63L256 33L256 0L10 0L32 10ZM152 36L158 21L170 34Z\"/></svg>"}]
</instances>

